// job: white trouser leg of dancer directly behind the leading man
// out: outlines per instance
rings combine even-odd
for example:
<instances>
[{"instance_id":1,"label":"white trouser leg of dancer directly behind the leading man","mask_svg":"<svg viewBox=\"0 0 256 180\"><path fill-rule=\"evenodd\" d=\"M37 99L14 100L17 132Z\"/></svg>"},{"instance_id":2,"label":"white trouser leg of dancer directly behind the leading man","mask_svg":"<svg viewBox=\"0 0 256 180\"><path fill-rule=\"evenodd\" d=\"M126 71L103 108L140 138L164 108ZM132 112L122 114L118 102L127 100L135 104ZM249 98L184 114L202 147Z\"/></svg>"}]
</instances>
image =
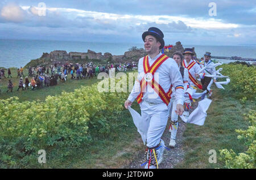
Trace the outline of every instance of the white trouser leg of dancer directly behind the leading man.
<instances>
[{"instance_id":1,"label":"white trouser leg of dancer directly behind the leading man","mask_svg":"<svg viewBox=\"0 0 256 180\"><path fill-rule=\"evenodd\" d=\"M176 114L175 110L177 108L177 103L175 100L175 97L171 98L171 102L170 102L171 108L170 108L170 113L169 113L169 117L171 118L172 122L175 122L175 127L178 127L178 115ZM171 132L171 139L175 139L176 138L176 134L177 134L177 129L174 126L170 127L170 132Z\"/></svg>"}]
</instances>

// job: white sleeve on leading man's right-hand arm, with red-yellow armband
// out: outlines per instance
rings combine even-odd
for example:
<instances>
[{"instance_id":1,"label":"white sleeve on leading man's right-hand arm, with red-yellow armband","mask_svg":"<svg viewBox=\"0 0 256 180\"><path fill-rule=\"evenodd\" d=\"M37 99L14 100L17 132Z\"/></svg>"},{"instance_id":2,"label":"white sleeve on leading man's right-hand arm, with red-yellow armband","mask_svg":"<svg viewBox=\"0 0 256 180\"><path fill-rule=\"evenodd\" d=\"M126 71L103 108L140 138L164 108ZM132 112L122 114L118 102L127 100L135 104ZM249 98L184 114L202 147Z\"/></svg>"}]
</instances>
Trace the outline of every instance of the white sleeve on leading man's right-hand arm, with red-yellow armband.
<instances>
[{"instance_id":1,"label":"white sleeve on leading man's right-hand arm, with red-yellow armband","mask_svg":"<svg viewBox=\"0 0 256 180\"><path fill-rule=\"evenodd\" d=\"M172 62L172 64L171 64L170 78L171 78L172 86L175 87L176 102L177 102L177 104L183 105L183 103L184 103L183 79L182 79L182 76L180 74L179 67L177 66L177 63L175 61Z\"/></svg>"}]
</instances>

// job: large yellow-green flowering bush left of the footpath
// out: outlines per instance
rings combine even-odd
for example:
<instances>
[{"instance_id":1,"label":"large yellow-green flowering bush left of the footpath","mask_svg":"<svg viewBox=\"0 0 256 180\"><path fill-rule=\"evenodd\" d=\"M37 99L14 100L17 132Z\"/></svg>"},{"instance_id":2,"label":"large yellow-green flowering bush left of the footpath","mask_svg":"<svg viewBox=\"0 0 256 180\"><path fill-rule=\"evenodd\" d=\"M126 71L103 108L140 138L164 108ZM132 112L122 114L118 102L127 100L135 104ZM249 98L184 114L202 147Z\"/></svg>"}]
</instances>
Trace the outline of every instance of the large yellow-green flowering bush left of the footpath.
<instances>
[{"instance_id":1,"label":"large yellow-green flowering bush left of the footpath","mask_svg":"<svg viewBox=\"0 0 256 180\"><path fill-rule=\"evenodd\" d=\"M68 149L90 143L92 134L109 135L123 125L119 115L126 93L98 92L97 84L46 101L0 100L0 167L35 162L39 149ZM66 150L68 151L68 150Z\"/></svg>"}]
</instances>

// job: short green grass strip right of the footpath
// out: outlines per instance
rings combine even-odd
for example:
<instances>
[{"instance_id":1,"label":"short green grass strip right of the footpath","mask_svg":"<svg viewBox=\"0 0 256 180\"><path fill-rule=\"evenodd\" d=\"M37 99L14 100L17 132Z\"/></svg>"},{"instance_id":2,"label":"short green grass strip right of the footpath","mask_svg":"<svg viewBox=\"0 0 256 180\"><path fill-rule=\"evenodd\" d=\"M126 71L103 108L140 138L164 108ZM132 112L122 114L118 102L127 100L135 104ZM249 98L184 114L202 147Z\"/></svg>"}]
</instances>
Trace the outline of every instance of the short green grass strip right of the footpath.
<instances>
[{"instance_id":1,"label":"short green grass strip right of the footpath","mask_svg":"<svg viewBox=\"0 0 256 180\"><path fill-rule=\"evenodd\" d=\"M244 152L246 147L237 139L236 129L246 129L249 122L243 114L255 109L254 101L241 103L232 94L226 95L225 90L214 89L213 101L207 111L207 118L203 126L187 124L183 136L185 150L184 161L176 168L225 168L224 162L218 161L220 149L233 149L234 152ZM217 153L217 163L209 163L209 151Z\"/></svg>"}]
</instances>

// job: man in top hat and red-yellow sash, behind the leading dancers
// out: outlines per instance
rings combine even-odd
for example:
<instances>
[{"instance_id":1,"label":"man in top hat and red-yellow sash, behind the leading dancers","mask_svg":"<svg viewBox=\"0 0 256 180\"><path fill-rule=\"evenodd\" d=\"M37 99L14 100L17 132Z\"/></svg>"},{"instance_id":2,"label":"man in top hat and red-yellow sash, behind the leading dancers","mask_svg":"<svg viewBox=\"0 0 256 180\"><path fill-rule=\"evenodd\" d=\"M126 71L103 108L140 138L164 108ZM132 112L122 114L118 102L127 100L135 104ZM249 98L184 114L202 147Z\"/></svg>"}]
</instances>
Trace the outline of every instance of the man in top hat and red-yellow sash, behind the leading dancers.
<instances>
[{"instance_id":1,"label":"man in top hat and red-yellow sash, behind the leading dancers","mask_svg":"<svg viewBox=\"0 0 256 180\"><path fill-rule=\"evenodd\" d=\"M193 88L197 87L199 89L202 89L202 85L196 81L196 78L202 77L203 73L197 74L197 72L201 70L201 67L192 59L194 55L193 49L185 48L183 55L184 55L184 61L182 62L182 65L183 67L188 69L188 75L189 75L188 83Z\"/></svg>"}]
</instances>

